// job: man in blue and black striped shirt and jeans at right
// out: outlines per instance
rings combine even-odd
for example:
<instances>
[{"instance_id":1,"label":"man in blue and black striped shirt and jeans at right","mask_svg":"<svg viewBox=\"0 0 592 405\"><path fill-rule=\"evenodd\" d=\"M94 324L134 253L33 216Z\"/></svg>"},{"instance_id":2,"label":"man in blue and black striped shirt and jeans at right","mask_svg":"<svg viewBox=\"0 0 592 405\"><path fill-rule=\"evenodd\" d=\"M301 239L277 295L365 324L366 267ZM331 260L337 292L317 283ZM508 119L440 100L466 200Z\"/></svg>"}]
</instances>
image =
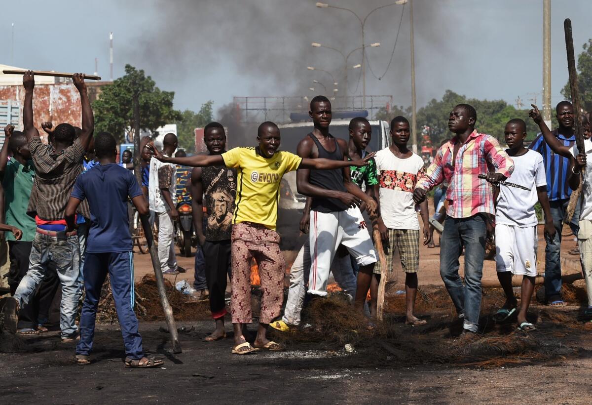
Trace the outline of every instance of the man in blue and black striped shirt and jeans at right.
<instances>
[{"instance_id":1,"label":"man in blue and black striped shirt and jeans at right","mask_svg":"<svg viewBox=\"0 0 592 405\"><path fill-rule=\"evenodd\" d=\"M559 127L552 131L553 135L563 142L564 146L575 143L574 134L574 106L569 101L561 101L555 108ZM561 228L563 219L570 202L571 189L567 183L567 174L570 170L570 160L555 154L539 133L530 146L533 151L543 155L545 173L547 177L547 194L551 205L551 216L555 225L555 237L546 239L545 248L545 299L548 305L562 307L565 304L561 298ZM578 221L580 221L580 205L577 204L574 216L570 222L571 231L578 234Z\"/></svg>"}]
</instances>

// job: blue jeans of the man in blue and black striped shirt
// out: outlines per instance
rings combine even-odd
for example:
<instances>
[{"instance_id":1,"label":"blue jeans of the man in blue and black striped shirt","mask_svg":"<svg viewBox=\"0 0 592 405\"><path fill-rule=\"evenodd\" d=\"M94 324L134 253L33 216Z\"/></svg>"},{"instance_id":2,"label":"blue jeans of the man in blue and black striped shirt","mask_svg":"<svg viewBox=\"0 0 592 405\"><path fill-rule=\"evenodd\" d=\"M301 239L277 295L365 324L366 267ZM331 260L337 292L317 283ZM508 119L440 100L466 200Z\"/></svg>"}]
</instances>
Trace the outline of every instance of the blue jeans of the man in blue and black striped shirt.
<instances>
[{"instance_id":1,"label":"blue jeans of the man in blue and black striped shirt","mask_svg":"<svg viewBox=\"0 0 592 405\"><path fill-rule=\"evenodd\" d=\"M561 301L561 228L570 199L549 201L551 218L555 226L555 238L545 238L545 300L546 302ZM570 228L574 235L578 234L580 226L580 204L575 205L574 216L571 218Z\"/></svg>"}]
</instances>

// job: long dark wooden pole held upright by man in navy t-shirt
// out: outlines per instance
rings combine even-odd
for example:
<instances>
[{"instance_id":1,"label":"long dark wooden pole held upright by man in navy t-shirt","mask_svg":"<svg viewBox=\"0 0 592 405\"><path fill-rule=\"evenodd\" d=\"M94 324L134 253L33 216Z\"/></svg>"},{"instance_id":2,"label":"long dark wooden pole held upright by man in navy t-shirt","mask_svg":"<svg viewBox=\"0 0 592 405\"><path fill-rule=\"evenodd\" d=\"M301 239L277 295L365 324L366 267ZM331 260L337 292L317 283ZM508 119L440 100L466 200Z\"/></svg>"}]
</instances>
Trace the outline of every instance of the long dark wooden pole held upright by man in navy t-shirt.
<instances>
[{"instance_id":1,"label":"long dark wooden pole held upright by man in navy t-shirt","mask_svg":"<svg viewBox=\"0 0 592 405\"><path fill-rule=\"evenodd\" d=\"M141 168L140 168L140 95L134 93L133 104L134 104L134 172L136 179L139 184L142 184ZM158 259L158 252L156 251L156 245L154 244L154 237L152 235L152 228L147 215L140 217L142 222L142 228L144 228L144 235L146 235L146 243L150 251L150 259L152 259L152 267L154 269L154 275L156 278L156 286L158 288L158 295L160 296L160 304L162 304L162 310L165 312L166 324L169 327L170 340L173 342L173 353L181 353L181 342L179 342L179 334L177 332L177 326L175 323L175 317L173 317L173 308L170 307L169 299L166 298L165 290L165 279L162 276L162 270L160 269L160 260Z\"/></svg>"}]
</instances>

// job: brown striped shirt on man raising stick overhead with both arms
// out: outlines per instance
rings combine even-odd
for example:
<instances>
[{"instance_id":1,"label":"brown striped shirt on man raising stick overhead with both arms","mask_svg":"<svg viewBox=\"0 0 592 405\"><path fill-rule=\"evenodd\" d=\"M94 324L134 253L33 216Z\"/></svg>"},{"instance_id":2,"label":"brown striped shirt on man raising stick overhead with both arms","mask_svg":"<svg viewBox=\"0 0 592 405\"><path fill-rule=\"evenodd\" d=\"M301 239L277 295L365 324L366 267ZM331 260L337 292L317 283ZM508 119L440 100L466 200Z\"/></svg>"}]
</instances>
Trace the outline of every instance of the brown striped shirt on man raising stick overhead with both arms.
<instances>
[{"instance_id":1,"label":"brown striped shirt on man raising stick overhead with both arms","mask_svg":"<svg viewBox=\"0 0 592 405\"><path fill-rule=\"evenodd\" d=\"M85 150L80 139L77 138L72 146L56 153L51 146L41 143L39 136L34 136L29 142L29 150L37 176L33 182L27 213L31 216L37 214L45 221L63 220L70 192L76 177L83 170ZM85 218L91 217L86 200L78 206L78 213Z\"/></svg>"}]
</instances>

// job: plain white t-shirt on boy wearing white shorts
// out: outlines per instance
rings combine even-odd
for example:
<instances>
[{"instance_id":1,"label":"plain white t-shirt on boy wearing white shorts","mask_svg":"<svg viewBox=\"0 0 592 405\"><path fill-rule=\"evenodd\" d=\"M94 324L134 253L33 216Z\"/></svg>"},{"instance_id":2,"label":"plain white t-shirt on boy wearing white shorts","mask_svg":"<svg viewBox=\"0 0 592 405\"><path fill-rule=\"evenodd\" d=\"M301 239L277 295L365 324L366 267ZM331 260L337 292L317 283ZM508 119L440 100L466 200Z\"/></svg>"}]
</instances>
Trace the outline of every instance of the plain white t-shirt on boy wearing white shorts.
<instances>
[{"instance_id":1,"label":"plain white t-shirt on boy wearing white shorts","mask_svg":"<svg viewBox=\"0 0 592 405\"><path fill-rule=\"evenodd\" d=\"M547 185L543 156L528 149L524 155L511 156L511 158L514 161L514 172L508 181L528 187L530 190L500 184L496 224L520 228L536 227L538 219L536 219L535 204L539 200L536 187Z\"/></svg>"}]
</instances>

